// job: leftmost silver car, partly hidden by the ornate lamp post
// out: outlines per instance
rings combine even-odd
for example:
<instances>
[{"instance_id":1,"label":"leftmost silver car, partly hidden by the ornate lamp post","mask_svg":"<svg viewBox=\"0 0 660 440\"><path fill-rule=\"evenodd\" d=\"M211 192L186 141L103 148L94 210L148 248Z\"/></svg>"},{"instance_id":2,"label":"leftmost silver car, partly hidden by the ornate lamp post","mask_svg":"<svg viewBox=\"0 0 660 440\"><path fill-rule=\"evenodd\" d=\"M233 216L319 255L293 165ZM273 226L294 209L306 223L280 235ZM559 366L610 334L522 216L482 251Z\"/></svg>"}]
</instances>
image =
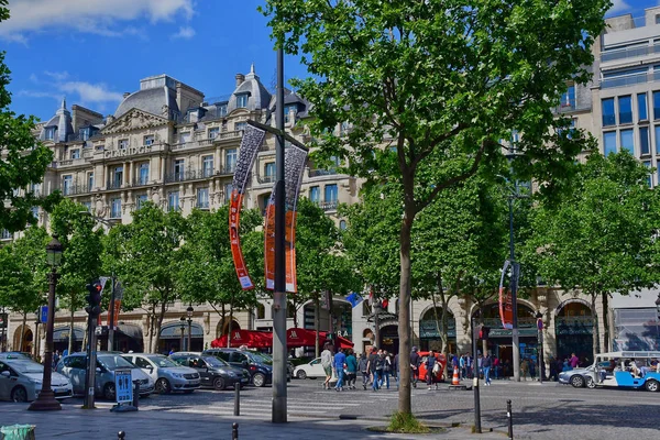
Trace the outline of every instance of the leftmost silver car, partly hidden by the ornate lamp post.
<instances>
[{"instance_id":1,"label":"leftmost silver car, partly hidden by the ornate lamp post","mask_svg":"<svg viewBox=\"0 0 660 440\"><path fill-rule=\"evenodd\" d=\"M25 358L0 358L0 399L31 402L36 399L42 388L44 366ZM53 372L51 385L55 398L64 399L74 395L72 383L62 374Z\"/></svg>"}]
</instances>

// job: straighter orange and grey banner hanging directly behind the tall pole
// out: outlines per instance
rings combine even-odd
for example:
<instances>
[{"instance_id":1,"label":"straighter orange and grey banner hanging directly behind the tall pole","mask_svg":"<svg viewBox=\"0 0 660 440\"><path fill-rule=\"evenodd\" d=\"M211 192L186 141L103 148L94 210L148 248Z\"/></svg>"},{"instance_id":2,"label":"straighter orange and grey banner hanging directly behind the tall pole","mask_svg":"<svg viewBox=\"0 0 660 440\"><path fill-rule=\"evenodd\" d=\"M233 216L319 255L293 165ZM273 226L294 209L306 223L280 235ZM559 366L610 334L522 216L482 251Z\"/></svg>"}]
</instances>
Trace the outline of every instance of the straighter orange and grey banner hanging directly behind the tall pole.
<instances>
[{"instance_id":1,"label":"straighter orange and grey banner hanging directly behind the tall pole","mask_svg":"<svg viewBox=\"0 0 660 440\"><path fill-rule=\"evenodd\" d=\"M307 162L307 151L290 145L286 150L284 160L285 175L285 267L286 267L286 292L296 293L298 285L296 282L296 207L298 202L298 191L302 183L302 173ZM266 288L275 288L275 187L268 198L266 206L266 224L264 230L264 273L266 276Z\"/></svg>"}]
</instances>

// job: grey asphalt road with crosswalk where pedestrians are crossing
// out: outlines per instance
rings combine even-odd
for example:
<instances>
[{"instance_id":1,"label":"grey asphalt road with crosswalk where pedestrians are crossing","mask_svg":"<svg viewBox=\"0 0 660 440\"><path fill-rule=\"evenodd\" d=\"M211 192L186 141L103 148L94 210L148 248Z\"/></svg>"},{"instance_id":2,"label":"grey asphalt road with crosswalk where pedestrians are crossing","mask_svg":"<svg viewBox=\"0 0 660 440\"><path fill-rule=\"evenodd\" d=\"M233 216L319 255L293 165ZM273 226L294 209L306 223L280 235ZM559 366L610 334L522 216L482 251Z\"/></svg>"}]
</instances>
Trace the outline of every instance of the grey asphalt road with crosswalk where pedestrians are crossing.
<instances>
[{"instance_id":1,"label":"grey asphalt road with crosswalk where pedestrians are crossing","mask_svg":"<svg viewBox=\"0 0 660 440\"><path fill-rule=\"evenodd\" d=\"M378 392L323 391L320 381L294 380L288 387L290 417L378 419L396 410L396 386ZM241 391L241 418L270 420L272 388ZM513 402L516 439L657 439L660 436L660 393L573 388L557 383L493 381L481 387L482 426L506 432L506 400ZM66 405L79 405L69 399ZM99 400L100 406L110 403ZM141 399L141 411L233 415L234 392L199 389L190 395L153 395ZM474 424L474 394L413 389L415 415L433 422Z\"/></svg>"}]
</instances>

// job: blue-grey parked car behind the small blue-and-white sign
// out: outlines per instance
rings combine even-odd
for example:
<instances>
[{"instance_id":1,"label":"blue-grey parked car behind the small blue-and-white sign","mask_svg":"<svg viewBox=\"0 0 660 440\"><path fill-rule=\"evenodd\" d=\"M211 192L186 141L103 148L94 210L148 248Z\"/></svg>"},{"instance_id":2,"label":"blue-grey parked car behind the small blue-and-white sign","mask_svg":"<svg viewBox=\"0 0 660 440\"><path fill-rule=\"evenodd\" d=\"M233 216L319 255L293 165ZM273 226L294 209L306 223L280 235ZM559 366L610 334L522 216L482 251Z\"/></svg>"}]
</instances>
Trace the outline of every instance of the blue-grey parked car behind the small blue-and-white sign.
<instances>
[{"instance_id":1,"label":"blue-grey parked car behind the small blue-and-white sign","mask_svg":"<svg viewBox=\"0 0 660 440\"><path fill-rule=\"evenodd\" d=\"M98 352L96 364L95 393L108 400L114 400L114 371L131 370L133 384L140 385L140 397L146 397L154 392L154 381L130 361L118 353ZM87 377L87 353L74 353L64 356L56 367L72 381L74 394L85 395L85 380Z\"/></svg>"}]
</instances>

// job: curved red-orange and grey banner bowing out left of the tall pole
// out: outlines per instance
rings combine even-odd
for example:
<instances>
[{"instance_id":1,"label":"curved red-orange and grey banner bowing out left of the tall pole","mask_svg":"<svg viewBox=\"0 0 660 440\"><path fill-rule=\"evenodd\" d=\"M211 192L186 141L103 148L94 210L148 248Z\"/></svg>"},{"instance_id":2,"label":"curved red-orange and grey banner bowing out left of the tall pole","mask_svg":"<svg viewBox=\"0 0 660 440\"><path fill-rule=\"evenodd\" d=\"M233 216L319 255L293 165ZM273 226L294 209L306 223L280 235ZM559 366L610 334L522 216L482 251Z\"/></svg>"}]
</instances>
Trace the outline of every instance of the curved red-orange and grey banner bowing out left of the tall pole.
<instances>
[{"instance_id":1,"label":"curved red-orange and grey banner bowing out left of the tall pole","mask_svg":"<svg viewBox=\"0 0 660 440\"><path fill-rule=\"evenodd\" d=\"M243 131L241 140L241 151L239 161L234 172L232 182L231 200L229 206L229 240L231 243L231 255L237 270L237 276L241 283L241 288L248 290L254 288L254 283L248 274L245 261L243 260L243 251L241 250L241 240L239 237L239 228L241 222L241 207L243 206L243 195L248 177L252 170L252 165L256 157L258 147L264 141L265 131L248 124Z\"/></svg>"}]
</instances>

